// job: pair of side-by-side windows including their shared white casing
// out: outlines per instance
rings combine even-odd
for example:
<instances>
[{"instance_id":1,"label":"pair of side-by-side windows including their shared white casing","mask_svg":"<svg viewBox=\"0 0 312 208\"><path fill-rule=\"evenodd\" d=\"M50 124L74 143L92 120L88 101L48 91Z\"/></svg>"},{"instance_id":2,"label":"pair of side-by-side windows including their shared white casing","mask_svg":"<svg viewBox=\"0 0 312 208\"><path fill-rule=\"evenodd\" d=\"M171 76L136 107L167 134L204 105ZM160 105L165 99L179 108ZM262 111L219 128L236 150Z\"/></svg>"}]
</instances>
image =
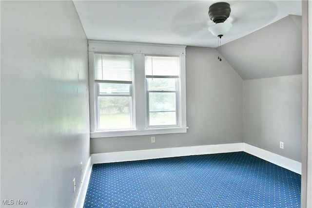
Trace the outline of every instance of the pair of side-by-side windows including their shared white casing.
<instances>
[{"instance_id":1,"label":"pair of side-by-side windows including their shared white casing","mask_svg":"<svg viewBox=\"0 0 312 208\"><path fill-rule=\"evenodd\" d=\"M90 137L186 132L185 46L89 40Z\"/></svg>"}]
</instances>

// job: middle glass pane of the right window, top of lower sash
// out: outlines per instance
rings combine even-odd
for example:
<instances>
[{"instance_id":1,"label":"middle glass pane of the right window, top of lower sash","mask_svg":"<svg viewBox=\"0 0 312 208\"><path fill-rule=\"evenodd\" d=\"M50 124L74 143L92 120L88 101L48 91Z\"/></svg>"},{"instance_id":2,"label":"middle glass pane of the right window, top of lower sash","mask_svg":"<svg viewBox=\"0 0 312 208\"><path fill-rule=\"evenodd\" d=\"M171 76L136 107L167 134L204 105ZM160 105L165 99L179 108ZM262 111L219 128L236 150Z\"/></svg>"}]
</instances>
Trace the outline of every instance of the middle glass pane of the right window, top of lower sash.
<instances>
[{"instance_id":1,"label":"middle glass pane of the right window, top of lower sash","mask_svg":"<svg viewBox=\"0 0 312 208\"><path fill-rule=\"evenodd\" d=\"M176 111L176 93L149 93L150 112Z\"/></svg>"}]
</instances>

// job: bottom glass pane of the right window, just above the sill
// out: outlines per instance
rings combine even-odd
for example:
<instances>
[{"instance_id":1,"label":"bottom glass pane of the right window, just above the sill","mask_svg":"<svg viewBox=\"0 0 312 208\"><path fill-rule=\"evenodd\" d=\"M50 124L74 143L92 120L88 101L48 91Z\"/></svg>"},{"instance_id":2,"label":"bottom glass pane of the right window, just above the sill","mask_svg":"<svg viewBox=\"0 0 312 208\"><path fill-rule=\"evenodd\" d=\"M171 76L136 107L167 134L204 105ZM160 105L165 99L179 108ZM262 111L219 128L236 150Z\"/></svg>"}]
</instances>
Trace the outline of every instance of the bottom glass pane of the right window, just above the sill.
<instances>
[{"instance_id":1,"label":"bottom glass pane of the right window, just above the sill","mask_svg":"<svg viewBox=\"0 0 312 208\"><path fill-rule=\"evenodd\" d=\"M176 112L150 113L150 126L176 125Z\"/></svg>"}]
</instances>

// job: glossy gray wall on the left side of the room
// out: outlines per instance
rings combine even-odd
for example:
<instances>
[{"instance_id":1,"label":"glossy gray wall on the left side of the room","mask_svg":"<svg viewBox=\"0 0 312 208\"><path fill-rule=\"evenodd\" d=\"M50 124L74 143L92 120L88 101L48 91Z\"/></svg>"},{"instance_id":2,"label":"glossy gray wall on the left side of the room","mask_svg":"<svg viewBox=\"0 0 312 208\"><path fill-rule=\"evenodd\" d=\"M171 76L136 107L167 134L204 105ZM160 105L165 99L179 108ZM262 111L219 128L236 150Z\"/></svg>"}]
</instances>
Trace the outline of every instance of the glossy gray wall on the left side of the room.
<instances>
[{"instance_id":1,"label":"glossy gray wall on the left side of the room","mask_svg":"<svg viewBox=\"0 0 312 208\"><path fill-rule=\"evenodd\" d=\"M28 201L7 207L73 206L90 156L87 51L72 1L1 1L1 200Z\"/></svg>"}]
</instances>

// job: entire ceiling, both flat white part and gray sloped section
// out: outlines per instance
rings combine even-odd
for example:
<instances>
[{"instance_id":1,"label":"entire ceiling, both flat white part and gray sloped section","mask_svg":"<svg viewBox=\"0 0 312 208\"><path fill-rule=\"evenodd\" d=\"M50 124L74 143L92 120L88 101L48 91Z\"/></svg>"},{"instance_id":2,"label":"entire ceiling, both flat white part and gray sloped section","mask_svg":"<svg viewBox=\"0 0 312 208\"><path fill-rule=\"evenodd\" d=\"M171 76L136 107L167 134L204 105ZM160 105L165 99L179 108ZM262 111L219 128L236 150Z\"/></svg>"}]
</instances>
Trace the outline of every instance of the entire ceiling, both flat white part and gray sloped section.
<instances>
[{"instance_id":1,"label":"entire ceiling, both flat white part and gray sloped section","mask_svg":"<svg viewBox=\"0 0 312 208\"><path fill-rule=\"evenodd\" d=\"M216 0L74 0L88 39L217 47ZM243 79L301 73L301 0L227 0L221 55Z\"/></svg>"}]
</instances>

